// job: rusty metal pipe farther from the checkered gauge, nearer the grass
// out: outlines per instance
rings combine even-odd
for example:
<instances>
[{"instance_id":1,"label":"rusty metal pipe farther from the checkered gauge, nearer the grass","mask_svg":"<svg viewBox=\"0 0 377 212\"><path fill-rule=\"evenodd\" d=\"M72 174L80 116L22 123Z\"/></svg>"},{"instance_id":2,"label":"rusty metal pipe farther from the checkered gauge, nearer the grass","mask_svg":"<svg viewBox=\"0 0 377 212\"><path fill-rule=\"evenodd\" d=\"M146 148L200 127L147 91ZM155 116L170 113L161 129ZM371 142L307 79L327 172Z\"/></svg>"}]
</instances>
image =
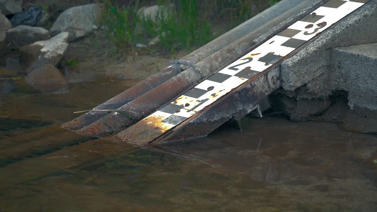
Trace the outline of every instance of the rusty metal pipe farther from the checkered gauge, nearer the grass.
<instances>
[{"instance_id":1,"label":"rusty metal pipe farther from the checkered gauge, nearer the grass","mask_svg":"<svg viewBox=\"0 0 377 212\"><path fill-rule=\"evenodd\" d=\"M306 0L306 2L307 1L308 0ZM203 60L209 55L219 51L220 49L229 45L233 41L238 40L242 36L264 25L265 23L269 22L271 19L276 18L280 14L283 14L284 12L288 11L290 8L292 8L293 6L296 6L297 4L301 2L304 2L304 0L282 0L276 5L271 6L265 11L250 18L249 20L237 26L236 28L231 29L230 31L216 38L215 40L207 43L206 45L202 46L196 51L186 55L181 60L190 61L191 63L194 63L194 64L198 63L199 61ZM185 70L187 68L189 68L189 66L183 66L183 65L181 66L182 70ZM132 88L127 89L121 94L118 94L115 97L111 98L110 100L93 108L93 110L118 109L122 105L134 100L135 98L139 97L145 92L150 91L151 89L155 88L156 86L163 83L164 81L169 80L173 76L177 75L179 72L181 72L181 70L172 69L172 68L162 69L159 73L148 77L147 79L141 81L140 83L136 84ZM97 121L98 119L100 119L106 114L107 114L106 111L89 111L81 115L80 117L75 118L72 121L68 121L67 123L64 123L61 127L68 130L77 130Z\"/></svg>"}]
</instances>

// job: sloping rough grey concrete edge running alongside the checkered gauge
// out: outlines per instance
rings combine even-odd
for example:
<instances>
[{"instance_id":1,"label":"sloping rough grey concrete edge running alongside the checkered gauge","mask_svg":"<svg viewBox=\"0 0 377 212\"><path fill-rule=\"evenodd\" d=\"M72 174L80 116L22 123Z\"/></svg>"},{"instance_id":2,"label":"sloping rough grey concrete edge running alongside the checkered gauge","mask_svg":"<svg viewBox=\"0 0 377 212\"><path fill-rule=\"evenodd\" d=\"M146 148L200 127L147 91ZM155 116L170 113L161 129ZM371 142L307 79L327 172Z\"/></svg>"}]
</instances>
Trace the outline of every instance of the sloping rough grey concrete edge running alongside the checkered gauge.
<instances>
[{"instance_id":1,"label":"sloping rough grey concrete edge running alongside the checkered gauge","mask_svg":"<svg viewBox=\"0 0 377 212\"><path fill-rule=\"evenodd\" d=\"M329 69L331 49L377 42L377 1L371 1L321 33L280 66L283 88L294 91ZM360 36L362 32L363 36ZM310 64L310 66L308 66Z\"/></svg>"}]
</instances>

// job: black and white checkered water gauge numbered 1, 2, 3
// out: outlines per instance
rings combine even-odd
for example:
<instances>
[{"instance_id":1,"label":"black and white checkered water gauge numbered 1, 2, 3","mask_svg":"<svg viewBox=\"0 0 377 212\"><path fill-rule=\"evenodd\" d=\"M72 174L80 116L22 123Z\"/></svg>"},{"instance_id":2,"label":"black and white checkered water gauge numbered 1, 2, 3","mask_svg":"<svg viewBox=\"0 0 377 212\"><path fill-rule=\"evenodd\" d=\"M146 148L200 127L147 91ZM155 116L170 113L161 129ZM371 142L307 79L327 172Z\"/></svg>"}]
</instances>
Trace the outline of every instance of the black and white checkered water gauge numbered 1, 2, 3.
<instances>
[{"instance_id":1,"label":"black and white checkered water gauge numbered 1, 2, 3","mask_svg":"<svg viewBox=\"0 0 377 212\"><path fill-rule=\"evenodd\" d=\"M151 127L158 126L161 132L168 131L367 2L368 0L330 0L175 101L144 118L160 120L160 123L144 123L151 124Z\"/></svg>"}]
</instances>

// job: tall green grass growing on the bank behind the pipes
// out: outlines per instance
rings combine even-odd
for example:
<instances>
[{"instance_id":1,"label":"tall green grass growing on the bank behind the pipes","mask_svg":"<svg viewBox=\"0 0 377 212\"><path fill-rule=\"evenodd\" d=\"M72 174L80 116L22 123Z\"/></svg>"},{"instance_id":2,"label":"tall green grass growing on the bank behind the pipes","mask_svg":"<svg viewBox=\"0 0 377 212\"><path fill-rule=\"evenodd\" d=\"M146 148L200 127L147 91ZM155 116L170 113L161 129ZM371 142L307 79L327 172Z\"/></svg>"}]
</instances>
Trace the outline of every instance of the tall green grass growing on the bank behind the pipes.
<instances>
[{"instance_id":1,"label":"tall green grass growing on the bank behind the pipes","mask_svg":"<svg viewBox=\"0 0 377 212\"><path fill-rule=\"evenodd\" d=\"M144 39L145 43L158 36L161 50L175 55L178 49L190 51L193 46L202 46L213 40L215 36L210 31L210 22L224 19L230 22L218 30L222 34L279 1L158 0L158 5L168 9L160 9L155 17L137 17L135 11L138 8L130 6L132 4L121 8L110 0L104 0L101 22L95 25L115 44L117 52L132 51L137 40ZM173 6L169 5L171 2ZM142 26L142 34L136 35L136 23Z\"/></svg>"}]
</instances>

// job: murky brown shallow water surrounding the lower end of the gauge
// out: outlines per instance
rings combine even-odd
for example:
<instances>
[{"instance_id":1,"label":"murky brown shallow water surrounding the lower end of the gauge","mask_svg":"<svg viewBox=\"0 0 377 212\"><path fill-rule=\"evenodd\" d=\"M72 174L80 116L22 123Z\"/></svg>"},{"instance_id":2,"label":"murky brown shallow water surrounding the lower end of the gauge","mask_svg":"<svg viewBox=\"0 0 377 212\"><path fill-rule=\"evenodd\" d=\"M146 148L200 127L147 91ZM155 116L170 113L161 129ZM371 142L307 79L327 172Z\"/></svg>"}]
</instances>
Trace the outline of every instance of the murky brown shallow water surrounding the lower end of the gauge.
<instances>
[{"instance_id":1,"label":"murky brown shallow water surrounding the lower end of the gauge","mask_svg":"<svg viewBox=\"0 0 377 212\"><path fill-rule=\"evenodd\" d=\"M377 136L336 123L249 118L147 149L58 127L135 83L2 80L0 211L377 211Z\"/></svg>"}]
</instances>

